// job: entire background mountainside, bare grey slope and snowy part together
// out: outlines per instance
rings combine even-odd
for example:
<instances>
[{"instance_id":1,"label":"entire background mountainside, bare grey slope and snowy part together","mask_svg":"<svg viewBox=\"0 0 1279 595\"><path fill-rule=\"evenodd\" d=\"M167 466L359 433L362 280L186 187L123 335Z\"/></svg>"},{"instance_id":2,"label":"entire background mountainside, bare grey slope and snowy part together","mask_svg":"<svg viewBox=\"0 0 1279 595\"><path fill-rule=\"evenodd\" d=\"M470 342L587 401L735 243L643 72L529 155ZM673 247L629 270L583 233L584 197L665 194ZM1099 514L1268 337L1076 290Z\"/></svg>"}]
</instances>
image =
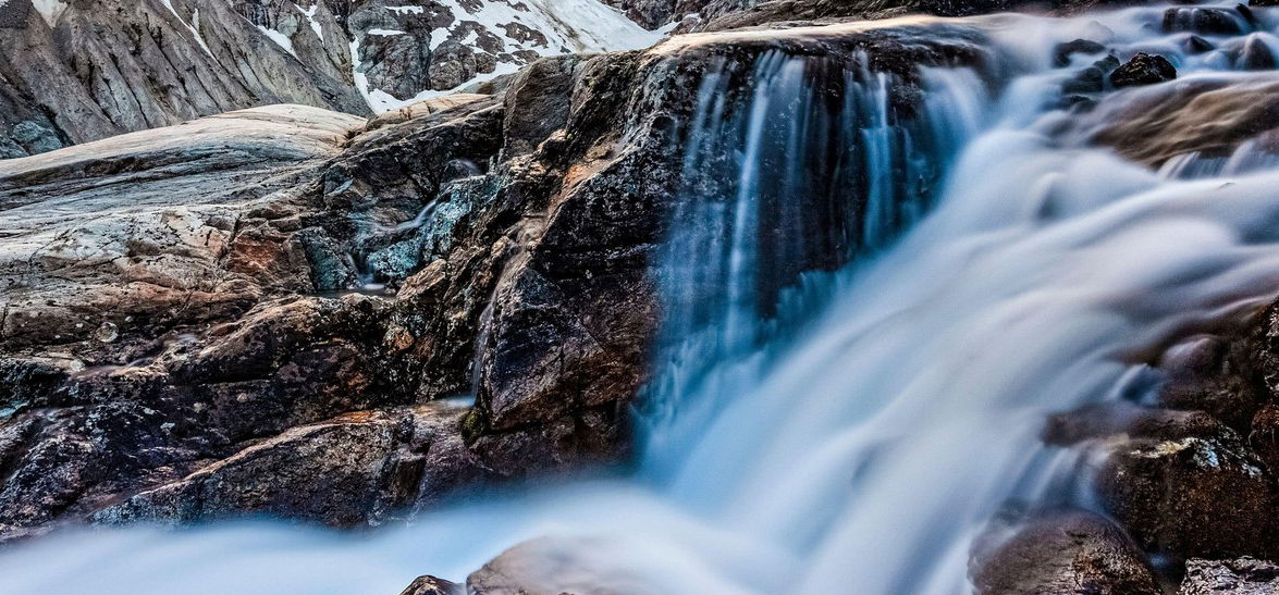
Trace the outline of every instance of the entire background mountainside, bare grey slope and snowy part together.
<instances>
[{"instance_id":1,"label":"entire background mountainside, bare grey slope and snowy part together","mask_svg":"<svg viewBox=\"0 0 1279 595\"><path fill-rule=\"evenodd\" d=\"M596 0L31 1L0 6L0 158L271 103L368 115L661 38Z\"/></svg>"}]
</instances>

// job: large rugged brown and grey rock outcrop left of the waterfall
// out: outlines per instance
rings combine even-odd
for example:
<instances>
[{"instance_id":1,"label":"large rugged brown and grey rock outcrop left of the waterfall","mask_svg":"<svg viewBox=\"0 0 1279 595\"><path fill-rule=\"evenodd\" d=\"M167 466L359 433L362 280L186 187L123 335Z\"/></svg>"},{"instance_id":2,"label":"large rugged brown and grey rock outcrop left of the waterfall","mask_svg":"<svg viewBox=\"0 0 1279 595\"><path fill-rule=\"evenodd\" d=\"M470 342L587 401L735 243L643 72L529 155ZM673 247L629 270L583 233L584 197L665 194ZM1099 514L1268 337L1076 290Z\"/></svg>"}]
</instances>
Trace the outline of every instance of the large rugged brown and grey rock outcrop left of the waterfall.
<instances>
[{"instance_id":1,"label":"large rugged brown and grey rock outcrop left of the waterfall","mask_svg":"<svg viewBox=\"0 0 1279 595\"><path fill-rule=\"evenodd\" d=\"M865 52L909 97L920 65L975 64L975 37L784 43L852 72ZM711 65L774 47L700 36L368 123L271 107L4 162L0 534L248 512L367 526L618 460L677 124Z\"/></svg>"}]
</instances>

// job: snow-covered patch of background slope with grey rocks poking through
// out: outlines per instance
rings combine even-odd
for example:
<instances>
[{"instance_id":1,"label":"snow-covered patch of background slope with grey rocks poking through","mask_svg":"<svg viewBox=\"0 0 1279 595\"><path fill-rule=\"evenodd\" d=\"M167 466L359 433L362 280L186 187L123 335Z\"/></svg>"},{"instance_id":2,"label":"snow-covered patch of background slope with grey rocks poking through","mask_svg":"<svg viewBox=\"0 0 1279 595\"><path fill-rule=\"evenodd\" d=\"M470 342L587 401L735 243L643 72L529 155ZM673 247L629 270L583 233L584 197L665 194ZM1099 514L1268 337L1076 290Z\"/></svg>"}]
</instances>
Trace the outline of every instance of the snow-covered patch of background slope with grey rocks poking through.
<instances>
[{"instance_id":1,"label":"snow-covered patch of background slope with grey rocks poking through","mask_svg":"<svg viewBox=\"0 0 1279 595\"><path fill-rule=\"evenodd\" d=\"M353 78L388 111L519 70L541 56L634 50L663 34L599 0L368 1L348 20Z\"/></svg>"}]
</instances>

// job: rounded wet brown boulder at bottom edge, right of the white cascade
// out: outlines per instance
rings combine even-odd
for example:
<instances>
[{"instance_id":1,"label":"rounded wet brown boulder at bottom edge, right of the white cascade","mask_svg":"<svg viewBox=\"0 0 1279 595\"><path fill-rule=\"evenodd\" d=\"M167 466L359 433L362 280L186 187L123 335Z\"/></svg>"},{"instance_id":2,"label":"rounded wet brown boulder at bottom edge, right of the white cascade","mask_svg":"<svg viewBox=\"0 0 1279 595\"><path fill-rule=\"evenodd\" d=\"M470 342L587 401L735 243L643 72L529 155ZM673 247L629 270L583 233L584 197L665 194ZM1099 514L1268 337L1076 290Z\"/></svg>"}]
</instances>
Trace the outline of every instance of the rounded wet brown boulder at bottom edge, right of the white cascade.
<instances>
[{"instance_id":1,"label":"rounded wet brown boulder at bottom edge, right of the white cascade","mask_svg":"<svg viewBox=\"0 0 1279 595\"><path fill-rule=\"evenodd\" d=\"M1078 511L994 521L973 545L969 576L980 595L1163 592L1122 529Z\"/></svg>"}]
</instances>

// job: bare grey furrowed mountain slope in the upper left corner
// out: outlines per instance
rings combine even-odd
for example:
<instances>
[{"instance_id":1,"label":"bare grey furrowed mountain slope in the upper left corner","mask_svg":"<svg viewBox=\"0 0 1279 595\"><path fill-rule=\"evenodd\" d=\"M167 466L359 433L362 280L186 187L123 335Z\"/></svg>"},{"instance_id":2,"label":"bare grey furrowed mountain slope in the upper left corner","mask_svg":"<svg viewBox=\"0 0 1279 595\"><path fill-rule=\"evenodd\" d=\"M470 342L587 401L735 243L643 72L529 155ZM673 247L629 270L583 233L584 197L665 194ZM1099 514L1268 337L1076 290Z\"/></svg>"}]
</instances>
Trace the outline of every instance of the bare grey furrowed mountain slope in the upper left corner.
<instances>
[{"instance_id":1,"label":"bare grey furrowed mountain slope in the upper left corner","mask_svg":"<svg viewBox=\"0 0 1279 595\"><path fill-rule=\"evenodd\" d=\"M29 1L13 0L0 11L17 15ZM26 10L0 37L0 157L255 105L367 114L336 38L312 38L313 29L302 27L297 43L285 50L235 11L251 5L263 15L281 14L285 6L283 14L292 15L298 13L292 3L52 5L61 9ZM317 31L338 31L324 4L311 13Z\"/></svg>"}]
</instances>

